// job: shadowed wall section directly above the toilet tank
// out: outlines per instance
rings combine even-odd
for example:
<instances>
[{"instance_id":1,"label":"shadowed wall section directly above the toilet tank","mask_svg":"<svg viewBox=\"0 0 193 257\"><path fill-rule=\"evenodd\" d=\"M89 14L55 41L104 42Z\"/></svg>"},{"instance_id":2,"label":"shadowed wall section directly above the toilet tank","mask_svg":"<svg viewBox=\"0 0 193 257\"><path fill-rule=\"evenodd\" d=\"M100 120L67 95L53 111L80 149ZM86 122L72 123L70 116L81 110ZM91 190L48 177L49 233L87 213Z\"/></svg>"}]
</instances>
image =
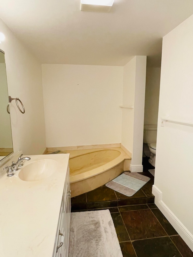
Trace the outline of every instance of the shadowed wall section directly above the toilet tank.
<instances>
[{"instance_id":1,"label":"shadowed wall section directly above the toilet tank","mask_svg":"<svg viewBox=\"0 0 193 257\"><path fill-rule=\"evenodd\" d=\"M157 125L161 68L147 67L144 125Z\"/></svg>"}]
</instances>

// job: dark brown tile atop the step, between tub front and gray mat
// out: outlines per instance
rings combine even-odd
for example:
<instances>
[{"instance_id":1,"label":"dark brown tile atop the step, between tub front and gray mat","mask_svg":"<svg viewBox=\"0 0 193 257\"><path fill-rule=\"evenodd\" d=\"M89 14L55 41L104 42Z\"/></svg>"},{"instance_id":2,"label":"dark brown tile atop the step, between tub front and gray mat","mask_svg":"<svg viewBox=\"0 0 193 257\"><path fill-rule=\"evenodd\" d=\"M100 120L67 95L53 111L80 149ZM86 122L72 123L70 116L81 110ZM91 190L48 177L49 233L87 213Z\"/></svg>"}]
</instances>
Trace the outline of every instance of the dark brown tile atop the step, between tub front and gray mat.
<instances>
[{"instance_id":1,"label":"dark brown tile atop the step, between tub front and gray mat","mask_svg":"<svg viewBox=\"0 0 193 257\"><path fill-rule=\"evenodd\" d=\"M98 188L86 193L86 195L87 195L87 202L101 202L101 201L117 200L115 191L106 186L98 187Z\"/></svg>"}]
</instances>

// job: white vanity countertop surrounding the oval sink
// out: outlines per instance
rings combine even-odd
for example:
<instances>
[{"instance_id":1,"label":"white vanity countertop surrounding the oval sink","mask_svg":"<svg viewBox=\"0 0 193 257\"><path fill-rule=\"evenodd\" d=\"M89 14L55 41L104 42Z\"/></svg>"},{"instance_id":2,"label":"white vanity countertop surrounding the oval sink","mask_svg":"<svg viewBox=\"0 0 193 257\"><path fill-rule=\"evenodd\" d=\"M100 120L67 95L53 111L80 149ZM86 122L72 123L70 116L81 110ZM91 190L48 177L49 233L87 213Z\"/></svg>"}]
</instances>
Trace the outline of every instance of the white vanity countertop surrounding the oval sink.
<instances>
[{"instance_id":1,"label":"white vanity countertop surrounding the oval sink","mask_svg":"<svg viewBox=\"0 0 193 257\"><path fill-rule=\"evenodd\" d=\"M23 156L22 156L23 157ZM57 171L34 182L7 177L0 168L0 256L52 257L69 154L29 155L30 161L57 161ZM14 161L17 158L13 159ZM11 161L13 161L11 160ZM8 164L10 164L8 162Z\"/></svg>"}]
</instances>

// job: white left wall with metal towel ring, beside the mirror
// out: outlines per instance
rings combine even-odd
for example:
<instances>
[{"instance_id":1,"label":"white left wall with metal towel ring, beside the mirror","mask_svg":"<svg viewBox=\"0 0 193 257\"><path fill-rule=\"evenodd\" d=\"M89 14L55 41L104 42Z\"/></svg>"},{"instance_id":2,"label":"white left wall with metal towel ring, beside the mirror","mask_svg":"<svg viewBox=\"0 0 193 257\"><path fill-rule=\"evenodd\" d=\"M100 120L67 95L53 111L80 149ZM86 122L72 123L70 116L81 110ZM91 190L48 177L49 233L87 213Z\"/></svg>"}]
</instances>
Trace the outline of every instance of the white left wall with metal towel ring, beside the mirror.
<instances>
[{"instance_id":1,"label":"white left wall with metal towel ring, beside the mirror","mask_svg":"<svg viewBox=\"0 0 193 257\"><path fill-rule=\"evenodd\" d=\"M0 48L5 52L8 93L25 107L21 114L15 102L10 104L14 152L41 154L46 147L41 64L2 20L0 31L5 35Z\"/></svg>"}]
</instances>

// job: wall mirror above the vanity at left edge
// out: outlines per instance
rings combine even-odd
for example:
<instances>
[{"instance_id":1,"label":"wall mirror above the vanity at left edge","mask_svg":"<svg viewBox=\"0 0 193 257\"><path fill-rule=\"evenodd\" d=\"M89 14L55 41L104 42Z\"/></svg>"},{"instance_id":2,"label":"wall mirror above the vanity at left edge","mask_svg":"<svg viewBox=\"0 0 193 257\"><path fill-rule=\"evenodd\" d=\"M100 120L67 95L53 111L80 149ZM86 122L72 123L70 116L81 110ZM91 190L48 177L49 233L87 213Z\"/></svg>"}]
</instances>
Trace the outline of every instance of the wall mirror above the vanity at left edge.
<instances>
[{"instance_id":1,"label":"wall mirror above the vanity at left edge","mask_svg":"<svg viewBox=\"0 0 193 257\"><path fill-rule=\"evenodd\" d=\"M10 114L7 112L8 89L5 53L0 49L0 161L13 152Z\"/></svg>"}]
</instances>

